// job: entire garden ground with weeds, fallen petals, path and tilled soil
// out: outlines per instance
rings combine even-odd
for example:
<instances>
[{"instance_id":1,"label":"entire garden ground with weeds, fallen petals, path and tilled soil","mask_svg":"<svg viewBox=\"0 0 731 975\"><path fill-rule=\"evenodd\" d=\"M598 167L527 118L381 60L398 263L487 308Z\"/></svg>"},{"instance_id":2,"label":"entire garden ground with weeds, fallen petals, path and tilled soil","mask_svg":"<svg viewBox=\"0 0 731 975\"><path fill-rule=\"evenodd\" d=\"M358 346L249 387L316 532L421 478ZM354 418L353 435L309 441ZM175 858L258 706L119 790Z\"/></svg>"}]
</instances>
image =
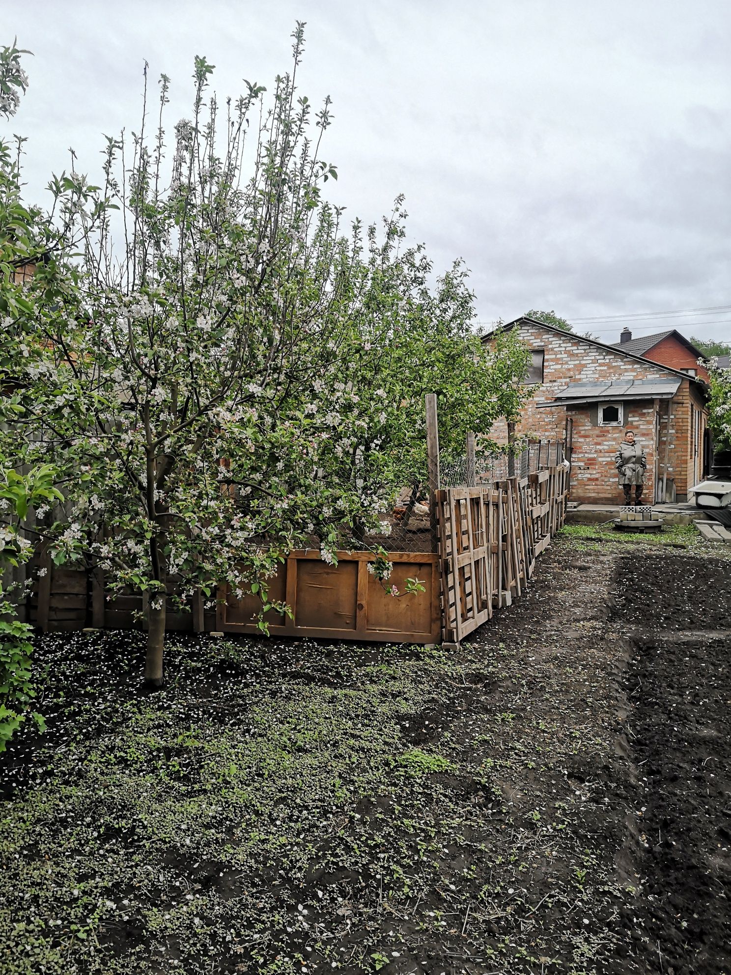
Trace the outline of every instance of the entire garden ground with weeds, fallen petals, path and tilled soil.
<instances>
[{"instance_id":1,"label":"entire garden ground with weeds, fallen petals, path and tilled soil","mask_svg":"<svg viewBox=\"0 0 731 975\"><path fill-rule=\"evenodd\" d=\"M173 640L147 697L47 638L0 971L731 971L729 569L566 536L457 655Z\"/></svg>"}]
</instances>

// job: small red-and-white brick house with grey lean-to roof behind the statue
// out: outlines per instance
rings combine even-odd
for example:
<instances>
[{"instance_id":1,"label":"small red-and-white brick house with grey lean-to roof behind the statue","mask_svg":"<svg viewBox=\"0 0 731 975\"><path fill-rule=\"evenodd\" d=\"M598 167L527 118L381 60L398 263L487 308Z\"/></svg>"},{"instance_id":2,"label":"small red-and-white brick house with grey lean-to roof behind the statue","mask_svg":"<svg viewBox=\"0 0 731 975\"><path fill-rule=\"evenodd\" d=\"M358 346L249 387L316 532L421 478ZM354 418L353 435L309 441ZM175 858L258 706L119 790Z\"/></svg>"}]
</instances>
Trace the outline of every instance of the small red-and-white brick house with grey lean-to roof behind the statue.
<instances>
[{"instance_id":1,"label":"small red-and-white brick house with grey lean-to roof behind the statue","mask_svg":"<svg viewBox=\"0 0 731 975\"><path fill-rule=\"evenodd\" d=\"M614 454L627 426L647 455L647 503L664 499L663 485L665 499L686 500L688 488L703 480L709 437L702 378L628 351L627 341L606 345L529 318L501 329L518 329L532 355L526 382L533 396L517 433L564 441L571 500L622 503ZM505 423L491 436L504 443Z\"/></svg>"}]
</instances>

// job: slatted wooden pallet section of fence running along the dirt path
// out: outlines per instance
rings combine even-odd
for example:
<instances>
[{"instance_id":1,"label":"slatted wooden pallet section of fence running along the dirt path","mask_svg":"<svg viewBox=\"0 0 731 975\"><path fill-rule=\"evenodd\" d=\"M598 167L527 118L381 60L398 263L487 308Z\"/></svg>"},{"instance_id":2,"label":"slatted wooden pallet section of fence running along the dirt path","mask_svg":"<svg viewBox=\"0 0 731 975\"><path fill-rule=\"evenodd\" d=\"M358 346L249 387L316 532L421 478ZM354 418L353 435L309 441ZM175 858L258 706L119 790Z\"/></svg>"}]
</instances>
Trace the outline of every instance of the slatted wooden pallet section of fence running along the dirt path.
<instances>
[{"instance_id":1,"label":"slatted wooden pallet section of fence running along the dirt path","mask_svg":"<svg viewBox=\"0 0 731 975\"><path fill-rule=\"evenodd\" d=\"M563 525L567 468L490 487L436 492L442 640L460 643L523 593L536 557Z\"/></svg>"}]
</instances>

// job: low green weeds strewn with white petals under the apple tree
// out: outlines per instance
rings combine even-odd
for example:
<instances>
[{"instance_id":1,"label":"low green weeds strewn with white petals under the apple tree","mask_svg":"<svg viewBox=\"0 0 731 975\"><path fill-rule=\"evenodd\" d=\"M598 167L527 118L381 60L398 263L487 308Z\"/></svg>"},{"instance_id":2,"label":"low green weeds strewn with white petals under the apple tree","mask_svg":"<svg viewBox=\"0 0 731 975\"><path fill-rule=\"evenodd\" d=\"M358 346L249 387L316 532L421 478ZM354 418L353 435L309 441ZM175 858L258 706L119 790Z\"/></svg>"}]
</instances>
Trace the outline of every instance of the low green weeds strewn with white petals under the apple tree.
<instances>
[{"instance_id":1,"label":"low green weeds strewn with white petals under the apple tree","mask_svg":"<svg viewBox=\"0 0 731 975\"><path fill-rule=\"evenodd\" d=\"M327 878L386 901L438 882L437 825L415 809L454 766L404 750L400 722L454 680L448 654L356 645L333 660L313 643L262 658L254 641L173 638L169 687L143 696L142 642L43 641L51 731L14 743L27 781L0 816L0 970L208 973L217 953L224 970L293 972L313 951L330 966L339 939L308 935L325 908L345 926ZM394 804L418 856L383 846Z\"/></svg>"}]
</instances>

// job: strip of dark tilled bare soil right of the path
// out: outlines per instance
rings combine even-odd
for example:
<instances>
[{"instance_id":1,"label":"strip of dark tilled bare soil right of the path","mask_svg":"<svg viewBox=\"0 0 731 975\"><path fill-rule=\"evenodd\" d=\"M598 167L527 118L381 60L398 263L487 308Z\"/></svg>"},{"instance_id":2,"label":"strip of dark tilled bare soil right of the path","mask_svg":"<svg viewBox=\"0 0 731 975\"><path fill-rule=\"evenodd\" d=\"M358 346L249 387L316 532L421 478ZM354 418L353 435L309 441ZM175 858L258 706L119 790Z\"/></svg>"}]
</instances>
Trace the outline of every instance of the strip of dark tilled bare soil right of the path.
<instances>
[{"instance_id":1,"label":"strip of dark tilled bare soil right of the path","mask_svg":"<svg viewBox=\"0 0 731 975\"><path fill-rule=\"evenodd\" d=\"M731 562L623 559L617 589L614 615L633 626L643 886L630 935L647 971L720 975L731 971Z\"/></svg>"}]
</instances>

